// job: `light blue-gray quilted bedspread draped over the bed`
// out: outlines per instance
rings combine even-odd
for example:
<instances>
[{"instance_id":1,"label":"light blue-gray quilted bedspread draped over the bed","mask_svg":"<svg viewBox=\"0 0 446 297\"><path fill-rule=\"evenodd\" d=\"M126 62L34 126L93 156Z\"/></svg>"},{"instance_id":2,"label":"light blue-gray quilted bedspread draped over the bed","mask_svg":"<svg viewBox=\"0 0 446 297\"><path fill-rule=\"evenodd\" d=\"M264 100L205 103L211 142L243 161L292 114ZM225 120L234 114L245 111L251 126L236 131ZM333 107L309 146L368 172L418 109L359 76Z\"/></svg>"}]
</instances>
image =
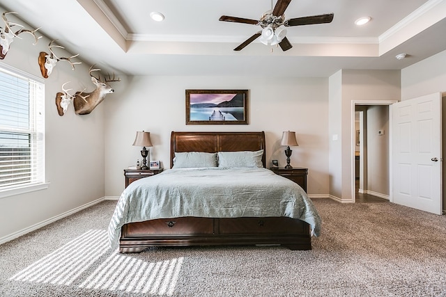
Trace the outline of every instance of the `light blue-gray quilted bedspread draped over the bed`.
<instances>
[{"instance_id":1,"label":"light blue-gray quilted bedspread draped over the bed","mask_svg":"<svg viewBox=\"0 0 446 297\"><path fill-rule=\"evenodd\" d=\"M288 216L309 223L318 236L321 218L298 184L266 168L169 169L132 182L109 223L115 248L126 223L156 218Z\"/></svg>"}]
</instances>

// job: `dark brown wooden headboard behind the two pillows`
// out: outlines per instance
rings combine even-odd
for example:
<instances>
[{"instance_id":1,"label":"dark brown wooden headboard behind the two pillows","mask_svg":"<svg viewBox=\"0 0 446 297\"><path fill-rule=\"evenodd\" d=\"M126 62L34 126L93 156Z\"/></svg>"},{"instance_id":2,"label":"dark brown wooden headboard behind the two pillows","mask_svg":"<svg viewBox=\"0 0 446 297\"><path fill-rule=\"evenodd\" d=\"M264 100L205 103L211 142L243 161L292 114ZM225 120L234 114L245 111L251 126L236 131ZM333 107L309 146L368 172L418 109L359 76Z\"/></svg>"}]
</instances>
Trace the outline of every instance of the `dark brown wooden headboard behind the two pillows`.
<instances>
[{"instance_id":1,"label":"dark brown wooden headboard behind the two pillows","mask_svg":"<svg viewBox=\"0 0 446 297\"><path fill-rule=\"evenodd\" d=\"M265 132L177 132L170 136L170 168L175 152L240 152L263 150L266 167Z\"/></svg>"}]
</instances>

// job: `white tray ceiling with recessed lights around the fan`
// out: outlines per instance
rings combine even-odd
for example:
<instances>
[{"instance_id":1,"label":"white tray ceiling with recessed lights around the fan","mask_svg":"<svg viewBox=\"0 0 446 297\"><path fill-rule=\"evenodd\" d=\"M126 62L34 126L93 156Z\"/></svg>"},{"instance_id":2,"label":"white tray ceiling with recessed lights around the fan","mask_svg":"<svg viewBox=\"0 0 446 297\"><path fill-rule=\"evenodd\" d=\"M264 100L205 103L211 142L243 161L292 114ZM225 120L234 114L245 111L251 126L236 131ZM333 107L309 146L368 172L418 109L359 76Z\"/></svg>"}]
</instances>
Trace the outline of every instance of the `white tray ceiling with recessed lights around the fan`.
<instances>
[{"instance_id":1,"label":"white tray ceiling with recessed lights around the fan","mask_svg":"<svg viewBox=\"0 0 446 297\"><path fill-rule=\"evenodd\" d=\"M261 27L219 17L259 19L275 2L7 0L0 5L1 12L18 13L8 15L10 21L41 26L41 34L58 39L71 54L117 74L328 77L339 69L400 70L446 49L446 0L293 0L286 19L334 13L333 22L289 27L289 51L259 40L233 51ZM163 13L164 22L153 21L152 11ZM355 26L363 16L372 21ZM407 58L397 60L400 53Z\"/></svg>"}]
</instances>

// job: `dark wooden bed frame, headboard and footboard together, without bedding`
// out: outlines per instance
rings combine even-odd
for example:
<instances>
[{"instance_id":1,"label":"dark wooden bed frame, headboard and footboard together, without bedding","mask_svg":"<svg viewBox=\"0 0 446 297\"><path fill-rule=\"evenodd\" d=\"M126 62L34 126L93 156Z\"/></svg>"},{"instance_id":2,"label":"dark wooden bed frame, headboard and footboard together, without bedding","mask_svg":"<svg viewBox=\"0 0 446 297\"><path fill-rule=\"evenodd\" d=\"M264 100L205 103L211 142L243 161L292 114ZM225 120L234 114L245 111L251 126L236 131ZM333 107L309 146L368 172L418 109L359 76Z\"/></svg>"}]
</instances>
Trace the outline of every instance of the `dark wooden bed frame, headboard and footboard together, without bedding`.
<instances>
[{"instance_id":1,"label":"dark wooden bed frame, headboard and footboard together, without bedding","mask_svg":"<svg viewBox=\"0 0 446 297\"><path fill-rule=\"evenodd\" d=\"M171 132L171 163L175 152L263 151L261 132ZM128 223L121 228L119 252L141 252L151 246L224 246L280 244L311 250L309 224L288 217L165 218Z\"/></svg>"}]
</instances>

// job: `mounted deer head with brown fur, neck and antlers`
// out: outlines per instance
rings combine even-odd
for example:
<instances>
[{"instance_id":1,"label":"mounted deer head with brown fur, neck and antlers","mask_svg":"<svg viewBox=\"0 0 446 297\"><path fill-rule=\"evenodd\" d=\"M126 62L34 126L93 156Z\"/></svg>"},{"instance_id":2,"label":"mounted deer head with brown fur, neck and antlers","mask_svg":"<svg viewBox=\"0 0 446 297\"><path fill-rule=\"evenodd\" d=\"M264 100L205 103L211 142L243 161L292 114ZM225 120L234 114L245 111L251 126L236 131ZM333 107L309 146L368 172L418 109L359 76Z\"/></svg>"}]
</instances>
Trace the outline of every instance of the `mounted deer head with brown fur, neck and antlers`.
<instances>
[{"instance_id":1,"label":"mounted deer head with brown fur, neck and antlers","mask_svg":"<svg viewBox=\"0 0 446 297\"><path fill-rule=\"evenodd\" d=\"M94 65L90 67L89 73L91 76L91 81L95 84L96 89L91 93L77 92L75 94L73 104L77 115L88 115L91 113L91 111L93 111L93 109L95 109L95 107L105 99L105 95L114 92L114 89L109 85L109 82L121 81L121 79L115 79L114 74L113 78L108 75L108 79L105 78L104 81L101 81L100 75L98 75L98 78L96 78L93 76L93 74L91 74L94 71L100 71L100 69L93 69L93 66Z\"/></svg>"}]
</instances>

